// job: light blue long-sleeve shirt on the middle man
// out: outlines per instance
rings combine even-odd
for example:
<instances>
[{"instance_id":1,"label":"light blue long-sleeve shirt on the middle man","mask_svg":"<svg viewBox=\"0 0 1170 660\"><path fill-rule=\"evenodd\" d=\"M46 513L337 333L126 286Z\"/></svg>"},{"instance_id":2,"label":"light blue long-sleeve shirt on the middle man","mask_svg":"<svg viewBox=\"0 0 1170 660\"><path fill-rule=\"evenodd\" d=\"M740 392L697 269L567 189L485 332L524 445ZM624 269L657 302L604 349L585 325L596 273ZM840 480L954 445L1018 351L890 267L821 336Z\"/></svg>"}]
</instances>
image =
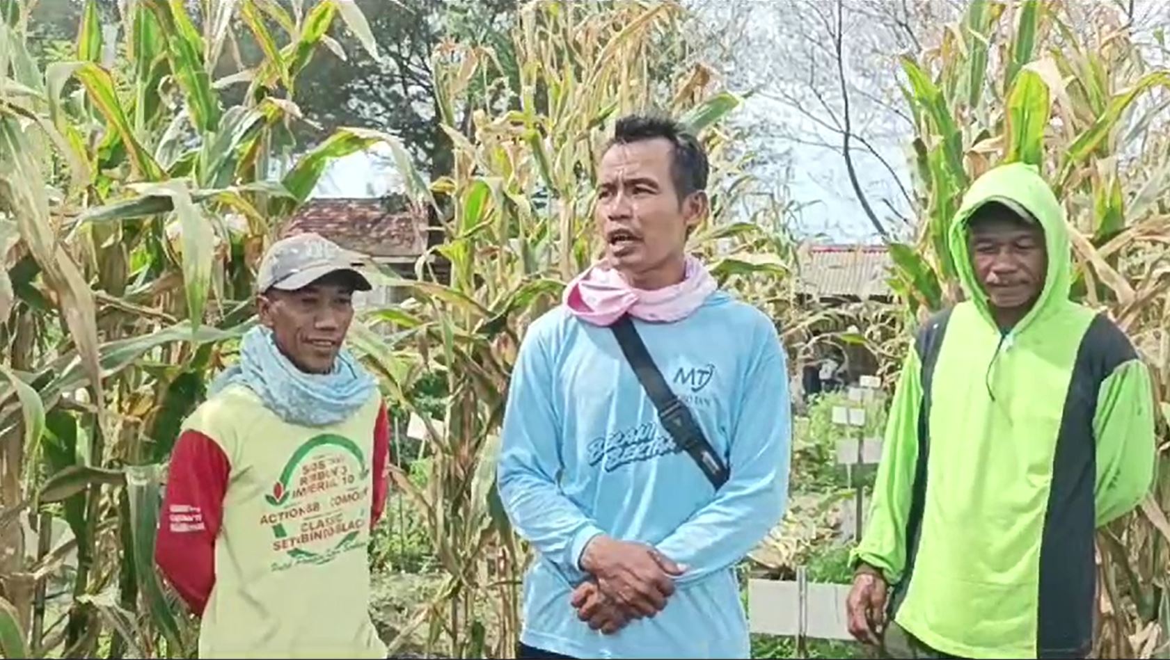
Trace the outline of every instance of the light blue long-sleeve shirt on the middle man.
<instances>
[{"instance_id":1,"label":"light blue long-sleeve shirt on the middle man","mask_svg":"<svg viewBox=\"0 0 1170 660\"><path fill-rule=\"evenodd\" d=\"M500 494L537 558L524 582L530 646L576 658L748 658L735 564L780 519L787 498L787 369L772 322L713 293L673 324L635 320L663 377L731 475L718 491L658 421L608 328L557 307L519 349L504 415ZM653 544L687 567L654 618L615 634L570 604L598 534Z\"/></svg>"}]
</instances>

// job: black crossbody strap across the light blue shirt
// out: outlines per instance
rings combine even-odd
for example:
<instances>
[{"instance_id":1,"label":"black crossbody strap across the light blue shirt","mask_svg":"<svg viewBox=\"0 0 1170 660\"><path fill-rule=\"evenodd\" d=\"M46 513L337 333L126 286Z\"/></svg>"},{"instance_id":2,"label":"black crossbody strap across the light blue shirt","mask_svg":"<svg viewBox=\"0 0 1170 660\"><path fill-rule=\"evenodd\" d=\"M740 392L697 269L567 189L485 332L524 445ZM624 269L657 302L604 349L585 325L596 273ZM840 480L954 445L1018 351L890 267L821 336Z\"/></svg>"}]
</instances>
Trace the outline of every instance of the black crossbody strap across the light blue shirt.
<instances>
[{"instance_id":1,"label":"black crossbody strap across the light blue shirt","mask_svg":"<svg viewBox=\"0 0 1170 660\"><path fill-rule=\"evenodd\" d=\"M649 352L646 350L646 345L642 343L642 338L639 336L633 321L628 315L624 315L610 326L610 329L618 340L618 346L621 347L626 361L633 367L646 395L651 397L654 408L658 409L662 428L680 449L695 459L698 468L718 491L727 482L729 470L711 449L711 444L703 435L698 422L690 414L690 409L679 401L679 397L670 390L670 385L667 384Z\"/></svg>"}]
</instances>

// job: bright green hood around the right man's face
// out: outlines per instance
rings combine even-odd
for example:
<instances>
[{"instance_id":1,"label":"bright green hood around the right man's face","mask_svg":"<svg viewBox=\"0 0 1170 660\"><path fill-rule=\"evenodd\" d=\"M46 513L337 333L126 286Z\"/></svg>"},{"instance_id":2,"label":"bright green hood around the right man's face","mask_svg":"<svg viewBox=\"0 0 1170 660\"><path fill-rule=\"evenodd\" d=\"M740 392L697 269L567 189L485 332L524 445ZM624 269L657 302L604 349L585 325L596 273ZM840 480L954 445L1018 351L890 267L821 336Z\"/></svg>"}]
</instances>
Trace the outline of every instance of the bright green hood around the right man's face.
<instances>
[{"instance_id":1,"label":"bright green hood around the right man's face","mask_svg":"<svg viewBox=\"0 0 1170 660\"><path fill-rule=\"evenodd\" d=\"M1023 209L1039 221L1044 229L1044 242L1048 256L1044 289L1035 306L1012 329L1012 334L1018 335L1037 318L1048 314L1068 301L1072 287L1072 259L1068 228L1065 224L1065 209L1040 176L1040 171L1033 165L1023 162L1002 165L987 171L975 180L963 196L963 203L951 220L948 241L963 291L968 299L978 307L983 318L992 325L994 325L994 320L991 317L987 296L971 265L971 252L968 248L966 236L968 218L979 207L989 202L1003 203L1017 213Z\"/></svg>"}]
</instances>

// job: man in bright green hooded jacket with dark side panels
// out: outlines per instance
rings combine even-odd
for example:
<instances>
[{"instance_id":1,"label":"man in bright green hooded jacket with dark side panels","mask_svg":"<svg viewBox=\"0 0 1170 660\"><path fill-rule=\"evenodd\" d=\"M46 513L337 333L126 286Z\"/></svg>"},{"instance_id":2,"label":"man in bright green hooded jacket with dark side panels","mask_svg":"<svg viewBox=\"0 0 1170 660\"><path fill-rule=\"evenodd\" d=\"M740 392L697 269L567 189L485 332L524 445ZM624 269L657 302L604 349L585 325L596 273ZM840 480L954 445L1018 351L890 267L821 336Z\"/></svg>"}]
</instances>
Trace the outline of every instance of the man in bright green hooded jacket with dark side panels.
<instances>
[{"instance_id":1,"label":"man in bright green hooded jacket with dark side panels","mask_svg":"<svg viewBox=\"0 0 1170 660\"><path fill-rule=\"evenodd\" d=\"M1154 479L1150 375L1069 300L1065 215L1037 168L975 181L949 242L966 300L903 366L849 630L892 658L1085 658L1094 532Z\"/></svg>"}]
</instances>

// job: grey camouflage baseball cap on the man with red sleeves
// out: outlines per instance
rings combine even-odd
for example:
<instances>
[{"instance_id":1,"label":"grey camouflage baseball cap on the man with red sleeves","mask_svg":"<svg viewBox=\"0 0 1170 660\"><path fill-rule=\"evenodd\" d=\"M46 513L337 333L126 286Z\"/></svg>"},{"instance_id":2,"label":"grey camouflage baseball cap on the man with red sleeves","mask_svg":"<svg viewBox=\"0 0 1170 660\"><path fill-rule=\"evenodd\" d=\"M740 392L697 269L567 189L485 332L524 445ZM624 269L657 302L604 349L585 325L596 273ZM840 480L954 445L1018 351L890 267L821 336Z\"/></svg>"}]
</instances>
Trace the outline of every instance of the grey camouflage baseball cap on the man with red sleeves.
<instances>
[{"instance_id":1,"label":"grey camouflage baseball cap on the man with red sleeves","mask_svg":"<svg viewBox=\"0 0 1170 660\"><path fill-rule=\"evenodd\" d=\"M273 243L260 262L256 290L261 293L276 287L296 291L329 273L344 271L353 278L353 289L370 291L370 280L362 273L362 258L318 234L297 234Z\"/></svg>"}]
</instances>

